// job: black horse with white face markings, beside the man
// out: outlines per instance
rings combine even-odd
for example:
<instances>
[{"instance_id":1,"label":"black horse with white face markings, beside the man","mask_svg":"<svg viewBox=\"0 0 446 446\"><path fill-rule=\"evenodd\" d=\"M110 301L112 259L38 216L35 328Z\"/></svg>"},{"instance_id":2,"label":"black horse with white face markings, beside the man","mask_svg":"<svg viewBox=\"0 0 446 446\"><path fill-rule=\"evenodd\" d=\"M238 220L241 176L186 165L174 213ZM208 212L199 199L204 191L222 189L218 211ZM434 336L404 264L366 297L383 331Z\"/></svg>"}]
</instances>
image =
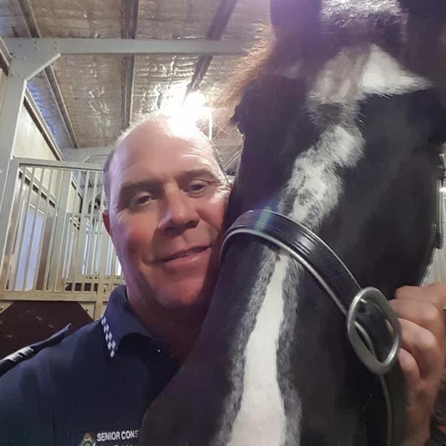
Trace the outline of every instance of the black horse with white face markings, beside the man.
<instances>
[{"instance_id":1,"label":"black horse with white face markings, beside the man","mask_svg":"<svg viewBox=\"0 0 446 446\"><path fill-rule=\"evenodd\" d=\"M270 15L274 40L235 89L244 145L227 225L253 209L255 228L281 215L391 298L420 283L435 245L446 4L271 0ZM140 444L401 443L373 436L377 378L336 302L286 237L253 233L226 244L198 342L145 413Z\"/></svg>"}]
</instances>

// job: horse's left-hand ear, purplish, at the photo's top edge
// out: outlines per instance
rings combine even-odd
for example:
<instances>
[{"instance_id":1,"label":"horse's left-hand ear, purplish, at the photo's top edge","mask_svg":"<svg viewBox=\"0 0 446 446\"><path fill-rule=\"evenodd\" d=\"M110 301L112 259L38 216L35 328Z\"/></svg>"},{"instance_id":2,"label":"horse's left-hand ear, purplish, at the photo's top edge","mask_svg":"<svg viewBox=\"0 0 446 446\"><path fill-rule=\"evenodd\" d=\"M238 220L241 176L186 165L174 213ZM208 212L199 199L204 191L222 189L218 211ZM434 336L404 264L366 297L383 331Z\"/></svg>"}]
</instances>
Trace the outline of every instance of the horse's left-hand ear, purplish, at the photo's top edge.
<instances>
[{"instance_id":1,"label":"horse's left-hand ear, purplish, at the photo's top edge","mask_svg":"<svg viewBox=\"0 0 446 446\"><path fill-rule=\"evenodd\" d=\"M271 0L270 16L277 39L305 38L318 30L322 0Z\"/></svg>"}]
</instances>

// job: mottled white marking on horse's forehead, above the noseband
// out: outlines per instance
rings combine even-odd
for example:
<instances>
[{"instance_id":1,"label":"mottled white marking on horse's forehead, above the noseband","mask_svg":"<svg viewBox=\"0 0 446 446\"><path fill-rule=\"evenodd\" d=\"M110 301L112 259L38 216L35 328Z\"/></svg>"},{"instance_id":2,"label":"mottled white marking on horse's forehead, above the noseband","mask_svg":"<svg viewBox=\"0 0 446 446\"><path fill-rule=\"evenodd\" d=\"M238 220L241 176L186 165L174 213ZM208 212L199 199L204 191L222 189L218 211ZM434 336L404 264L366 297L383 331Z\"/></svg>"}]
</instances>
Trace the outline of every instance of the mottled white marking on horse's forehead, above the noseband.
<instances>
[{"instance_id":1,"label":"mottled white marking on horse's forehead, above the noseband","mask_svg":"<svg viewBox=\"0 0 446 446\"><path fill-rule=\"evenodd\" d=\"M401 95L429 86L377 45L344 49L329 60L314 80L307 106L317 112L321 104L336 104L342 107L342 117L338 124L327 126L318 142L294 161L282 200L289 200L290 194L298 197L290 218L316 230L338 204L342 184L336 167L353 167L364 151L355 119L361 100L367 95Z\"/></svg>"}]
</instances>

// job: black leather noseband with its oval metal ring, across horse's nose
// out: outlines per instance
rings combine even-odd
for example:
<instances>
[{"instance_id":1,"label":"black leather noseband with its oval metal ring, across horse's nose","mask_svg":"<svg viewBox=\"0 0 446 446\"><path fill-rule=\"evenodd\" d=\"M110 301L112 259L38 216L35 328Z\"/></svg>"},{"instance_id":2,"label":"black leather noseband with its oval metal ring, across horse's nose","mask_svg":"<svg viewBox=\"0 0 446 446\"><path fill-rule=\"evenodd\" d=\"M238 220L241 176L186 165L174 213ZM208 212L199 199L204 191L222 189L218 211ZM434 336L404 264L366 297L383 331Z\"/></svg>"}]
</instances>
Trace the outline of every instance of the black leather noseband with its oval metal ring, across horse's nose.
<instances>
[{"instance_id":1,"label":"black leather noseband with its oval metal ring, across horse's nose","mask_svg":"<svg viewBox=\"0 0 446 446\"><path fill-rule=\"evenodd\" d=\"M357 356L375 375L384 375L394 364L401 340L398 318L388 300L377 288L362 289L342 260L315 233L289 218L267 209L248 211L241 215L226 232L222 253L228 241L239 234L254 235L285 250L296 259L336 303L347 317L347 333ZM360 305L373 302L380 314L392 326L392 348L384 360L370 349L371 336L358 321ZM357 332L361 333L362 338ZM364 342L365 341L365 342Z\"/></svg>"}]
</instances>

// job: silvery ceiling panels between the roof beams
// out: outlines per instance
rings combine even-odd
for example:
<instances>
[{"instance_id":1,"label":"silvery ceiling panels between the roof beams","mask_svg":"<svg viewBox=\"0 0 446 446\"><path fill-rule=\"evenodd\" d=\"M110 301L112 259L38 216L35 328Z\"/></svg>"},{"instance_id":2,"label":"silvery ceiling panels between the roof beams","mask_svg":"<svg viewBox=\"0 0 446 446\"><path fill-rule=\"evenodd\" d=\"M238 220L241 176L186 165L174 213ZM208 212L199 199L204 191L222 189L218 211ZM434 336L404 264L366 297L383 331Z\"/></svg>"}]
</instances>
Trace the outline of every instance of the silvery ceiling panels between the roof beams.
<instances>
[{"instance_id":1,"label":"silvery ceiling panels between the roof beams","mask_svg":"<svg viewBox=\"0 0 446 446\"><path fill-rule=\"evenodd\" d=\"M0 34L32 36L23 14L24 4L34 13L42 37L120 38L124 35L124 2L116 0L3 0ZM133 1L133 0L131 0ZM205 38L221 0L139 0L136 38ZM222 38L253 44L256 23L268 21L269 0L239 0ZM29 17L28 17L29 25ZM124 126L121 56L62 56L54 64L69 120L81 148L113 143ZM131 119L180 103L196 69L198 56L137 56ZM233 75L239 58L215 56L200 85L213 101ZM66 126L45 76L30 82L30 90L62 148L71 148ZM232 141L232 142L231 142ZM229 159L239 138L229 132L218 139Z\"/></svg>"}]
</instances>

